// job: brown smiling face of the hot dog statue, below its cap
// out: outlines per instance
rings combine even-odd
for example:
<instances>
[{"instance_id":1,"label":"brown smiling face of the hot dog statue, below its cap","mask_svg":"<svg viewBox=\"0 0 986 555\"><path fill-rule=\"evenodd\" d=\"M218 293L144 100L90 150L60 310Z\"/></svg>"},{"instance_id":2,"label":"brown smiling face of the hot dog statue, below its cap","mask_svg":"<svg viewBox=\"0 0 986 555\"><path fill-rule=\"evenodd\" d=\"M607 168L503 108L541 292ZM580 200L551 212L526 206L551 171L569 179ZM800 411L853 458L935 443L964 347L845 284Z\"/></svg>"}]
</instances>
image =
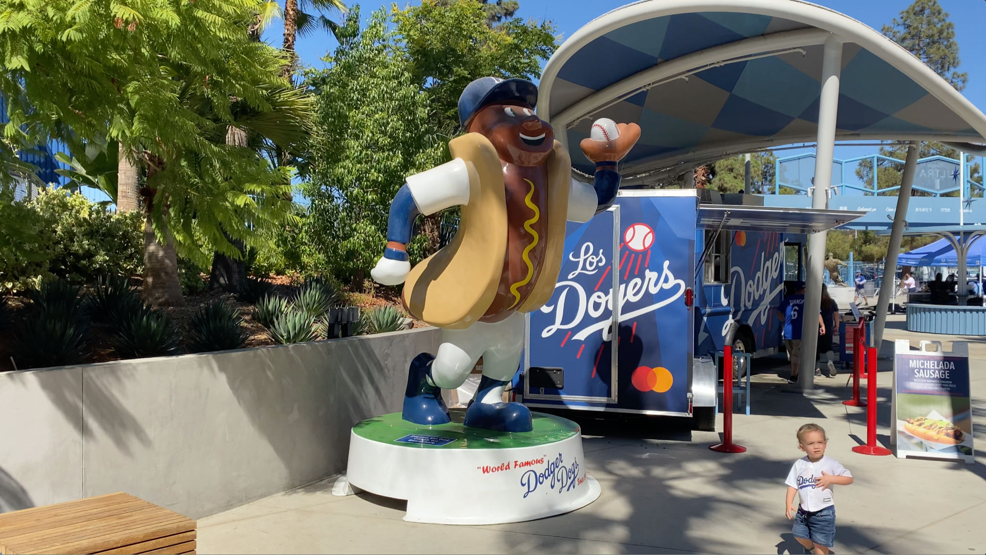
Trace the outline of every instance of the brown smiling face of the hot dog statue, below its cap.
<instances>
[{"instance_id":1,"label":"brown smiling face of the hot dog statue, below its cap","mask_svg":"<svg viewBox=\"0 0 986 555\"><path fill-rule=\"evenodd\" d=\"M518 166L542 164L554 147L551 125L520 102L484 107L472 118L466 131L488 138L501 160Z\"/></svg>"}]
</instances>

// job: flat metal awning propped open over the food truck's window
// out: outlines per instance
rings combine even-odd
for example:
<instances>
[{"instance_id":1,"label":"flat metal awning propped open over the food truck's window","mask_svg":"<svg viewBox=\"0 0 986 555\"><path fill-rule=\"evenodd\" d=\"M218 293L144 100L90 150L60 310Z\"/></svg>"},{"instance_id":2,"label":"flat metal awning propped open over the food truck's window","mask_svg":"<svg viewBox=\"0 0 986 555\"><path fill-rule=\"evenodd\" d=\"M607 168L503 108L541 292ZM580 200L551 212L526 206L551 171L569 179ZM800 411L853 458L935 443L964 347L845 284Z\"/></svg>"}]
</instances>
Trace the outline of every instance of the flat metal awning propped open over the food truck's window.
<instances>
[{"instance_id":1,"label":"flat metal awning propped open over the food truck's window","mask_svg":"<svg viewBox=\"0 0 986 555\"><path fill-rule=\"evenodd\" d=\"M777 206L699 204L699 229L815 233L848 223L866 212Z\"/></svg>"}]
</instances>

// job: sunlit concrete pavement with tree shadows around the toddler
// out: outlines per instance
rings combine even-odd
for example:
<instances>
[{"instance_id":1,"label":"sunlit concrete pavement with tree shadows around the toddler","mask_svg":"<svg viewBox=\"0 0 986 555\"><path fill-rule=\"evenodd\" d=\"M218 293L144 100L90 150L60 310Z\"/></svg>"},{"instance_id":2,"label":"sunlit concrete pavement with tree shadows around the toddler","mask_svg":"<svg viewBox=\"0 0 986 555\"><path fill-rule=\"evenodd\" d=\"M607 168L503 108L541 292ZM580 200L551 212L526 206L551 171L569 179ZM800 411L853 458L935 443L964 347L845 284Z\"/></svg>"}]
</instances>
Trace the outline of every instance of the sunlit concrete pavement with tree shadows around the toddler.
<instances>
[{"instance_id":1,"label":"sunlit concrete pavement with tree shadows around the toddler","mask_svg":"<svg viewBox=\"0 0 986 555\"><path fill-rule=\"evenodd\" d=\"M891 316L884 342L921 336ZM986 445L986 338L970 342L974 437ZM892 350L892 348L890 348ZM886 348L884 347L884 351ZM887 353L889 351L886 351ZM892 360L880 360L880 429L888 440ZM490 526L404 522L403 502L331 495L331 480L199 520L199 553L802 553L784 516L784 478L801 453L795 432L815 422L827 454L855 483L835 491L835 553L986 552L986 459L973 465L866 456L865 409L841 404L848 376L817 380L819 398L786 393L786 361L757 360L752 416L737 415L741 454L710 451L713 433L674 419L586 420L587 464L602 486L590 506ZM978 398L977 398L978 395ZM720 417L719 429L722 429ZM463 491L467 496L469 492Z\"/></svg>"}]
</instances>

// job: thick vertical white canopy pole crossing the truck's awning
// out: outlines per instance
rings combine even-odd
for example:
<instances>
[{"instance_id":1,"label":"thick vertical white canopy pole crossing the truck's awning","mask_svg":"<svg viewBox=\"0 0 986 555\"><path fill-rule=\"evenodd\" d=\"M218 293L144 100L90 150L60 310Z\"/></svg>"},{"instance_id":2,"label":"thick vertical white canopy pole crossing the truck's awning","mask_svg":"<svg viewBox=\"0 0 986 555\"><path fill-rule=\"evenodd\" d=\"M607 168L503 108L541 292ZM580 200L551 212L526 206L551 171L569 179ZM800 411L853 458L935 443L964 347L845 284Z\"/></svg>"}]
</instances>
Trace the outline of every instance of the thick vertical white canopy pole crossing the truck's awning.
<instances>
[{"instance_id":1,"label":"thick vertical white canopy pole crossing the truck's awning","mask_svg":"<svg viewBox=\"0 0 986 555\"><path fill-rule=\"evenodd\" d=\"M832 158L835 155L835 119L839 111L839 73L842 68L842 41L834 36L825 40L821 59L821 98L818 100L818 137L814 158L812 208L828 205L832 185ZM825 238L819 231L808 239L808 276L805 313L802 317L801 369L798 383L802 391L814 386L815 349L818 346L818 314L821 308L821 274L824 272Z\"/></svg>"}]
</instances>

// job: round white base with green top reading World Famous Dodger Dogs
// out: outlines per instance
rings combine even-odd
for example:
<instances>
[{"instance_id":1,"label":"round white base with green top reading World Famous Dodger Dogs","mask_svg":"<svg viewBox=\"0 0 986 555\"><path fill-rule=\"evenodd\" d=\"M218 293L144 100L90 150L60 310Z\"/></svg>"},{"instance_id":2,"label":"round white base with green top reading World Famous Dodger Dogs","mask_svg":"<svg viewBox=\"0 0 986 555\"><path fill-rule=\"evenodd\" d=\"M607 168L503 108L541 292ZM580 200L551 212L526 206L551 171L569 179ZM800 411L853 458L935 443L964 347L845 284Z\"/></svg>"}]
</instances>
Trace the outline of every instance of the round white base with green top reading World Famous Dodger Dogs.
<instances>
[{"instance_id":1,"label":"round white base with green top reading World Famous Dodger Dogs","mask_svg":"<svg viewBox=\"0 0 986 555\"><path fill-rule=\"evenodd\" d=\"M407 500L404 520L499 524L561 515L599 498L586 473L579 425L533 413L533 432L508 434L459 423L419 426L400 413L353 427L346 479Z\"/></svg>"}]
</instances>

